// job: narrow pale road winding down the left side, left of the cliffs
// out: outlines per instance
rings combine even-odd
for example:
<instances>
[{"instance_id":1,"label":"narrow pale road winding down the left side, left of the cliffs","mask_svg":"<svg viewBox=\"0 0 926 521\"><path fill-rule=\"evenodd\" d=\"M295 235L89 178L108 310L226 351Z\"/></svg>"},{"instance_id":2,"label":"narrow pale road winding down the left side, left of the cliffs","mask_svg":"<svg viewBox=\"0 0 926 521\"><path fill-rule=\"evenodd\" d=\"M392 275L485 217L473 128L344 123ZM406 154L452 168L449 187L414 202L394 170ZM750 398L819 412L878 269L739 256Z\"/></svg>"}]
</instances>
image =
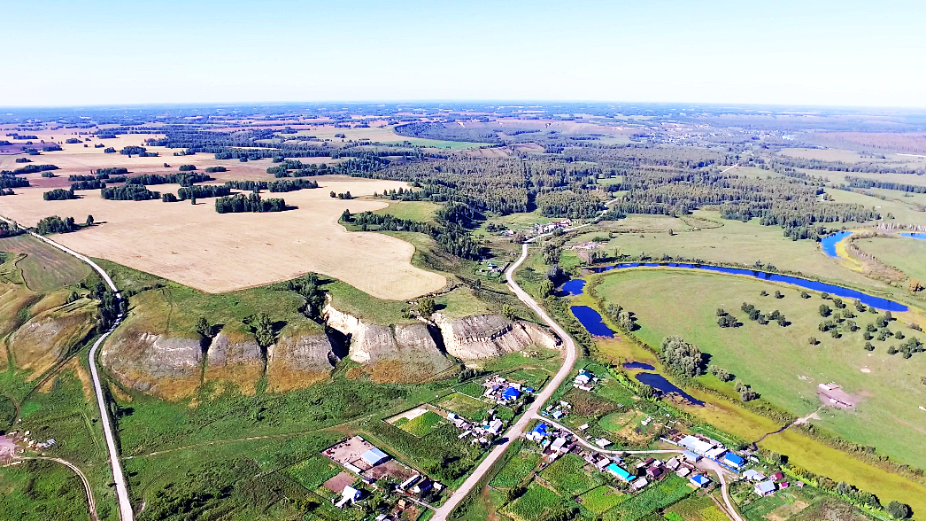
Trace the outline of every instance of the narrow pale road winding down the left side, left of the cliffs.
<instances>
[{"instance_id":1,"label":"narrow pale road winding down the left side, left of the cliffs","mask_svg":"<svg viewBox=\"0 0 926 521\"><path fill-rule=\"evenodd\" d=\"M15 222L9 221L4 218L0 218L3 221L9 222L15 225ZM90 264L90 267L93 268L96 273L100 273L100 276L103 277L103 280L106 281L106 286L109 286L109 289L116 294L116 299L121 300L122 296L119 294L119 289L113 283L113 279L109 278L109 275L103 268L99 267L96 262L91 261L84 255L74 251L73 249L62 246L55 241L45 237L43 235L38 235L33 232L29 232L33 237L43 241L44 243L58 248L69 255L77 257L81 261ZM106 333L101 337L97 338L94 342L94 347L90 349L90 375L94 380L94 390L96 391L96 403L100 408L100 419L103 423L103 434L106 437L106 449L109 451L109 464L112 465L113 471L113 481L116 483L116 496L119 499L119 517L122 521L132 521L134 518L134 513L131 510L131 500L129 499L129 487L125 482L125 475L122 473L122 464L119 463L119 450L116 448L116 438L113 436L112 425L109 423L109 411L106 409L106 400L103 398L103 385L100 383L100 375L96 370L96 350L103 345L103 341L106 340L106 337L113 332L114 329L122 322L122 314L116 318L116 323L110 327Z\"/></svg>"}]
</instances>

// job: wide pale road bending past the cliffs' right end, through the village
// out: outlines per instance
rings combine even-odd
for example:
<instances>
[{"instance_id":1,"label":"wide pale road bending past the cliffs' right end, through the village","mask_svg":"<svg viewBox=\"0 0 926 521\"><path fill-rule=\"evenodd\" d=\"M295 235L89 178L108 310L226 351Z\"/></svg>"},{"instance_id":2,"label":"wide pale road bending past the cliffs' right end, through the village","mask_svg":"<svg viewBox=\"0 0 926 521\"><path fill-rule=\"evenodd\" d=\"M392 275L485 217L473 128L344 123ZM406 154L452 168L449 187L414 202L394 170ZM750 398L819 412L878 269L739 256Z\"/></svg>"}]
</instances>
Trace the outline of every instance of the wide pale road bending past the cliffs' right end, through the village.
<instances>
[{"instance_id":1,"label":"wide pale road bending past the cliffs' right end, through the village","mask_svg":"<svg viewBox=\"0 0 926 521\"><path fill-rule=\"evenodd\" d=\"M484 460L482 460L482 463L476 467L476 470L467 478L466 481L463 482L463 485L461 485L459 489L454 490L453 494L447 498L447 501L437 509L432 517L433 521L446 521L447 515L450 515L454 508L457 507L457 504L463 501L463 498L469 494L469 492L476 486L479 480L482 479L482 476L484 476L485 473L489 471L489 468L496 461L498 461L498 458L500 458L501 455L507 450L511 440L519 438L519 436L524 433L528 424L531 422L534 416L537 415L538 411L540 411L540 408L544 406L546 400L549 400L557 388L559 388L559 385L566 380L566 378L569 376L569 373L572 371L572 366L575 365L576 357L578 356L578 349L576 349L575 342L573 342L572 338L569 337L566 331L564 331L563 328L559 326L559 324L554 322L553 319L551 319L546 314L546 311L544 311L544 309L541 308L540 305L537 304L537 302L535 302L534 299L532 299L531 296L528 295L527 292L525 292L523 289L521 289L520 286L518 286L518 283L515 282L514 273L518 270L521 263L527 259L527 253L528 245L525 243L521 247L520 258L518 261L512 264L505 273L508 286L511 287L511 291L514 292L514 294L518 297L518 299L520 299L521 302L524 302L527 307L531 308L533 312L537 313L537 316L543 319L544 322L549 325L550 328L553 329L553 331L556 332L556 334L562 339L564 349L566 349L566 360L559 368L557 374L554 375L550 382L546 385L544 390L540 391L540 393L534 398L528 410L521 414L519 420L515 422L514 425L508 428L504 435L505 442L494 446L493 450L489 452L489 455L486 456Z\"/></svg>"}]
</instances>

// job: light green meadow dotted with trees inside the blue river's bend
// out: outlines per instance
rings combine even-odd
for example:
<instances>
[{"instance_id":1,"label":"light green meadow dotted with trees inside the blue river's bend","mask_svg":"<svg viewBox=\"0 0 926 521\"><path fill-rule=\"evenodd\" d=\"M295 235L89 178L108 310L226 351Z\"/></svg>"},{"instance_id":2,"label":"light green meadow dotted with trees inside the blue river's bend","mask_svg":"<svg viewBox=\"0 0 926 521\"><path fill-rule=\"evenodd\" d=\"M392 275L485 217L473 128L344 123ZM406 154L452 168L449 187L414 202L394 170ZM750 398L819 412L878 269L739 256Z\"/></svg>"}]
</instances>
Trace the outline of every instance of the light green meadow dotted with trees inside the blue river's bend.
<instances>
[{"instance_id":1,"label":"light green meadow dotted with trees inside the blue river's bend","mask_svg":"<svg viewBox=\"0 0 926 521\"><path fill-rule=\"evenodd\" d=\"M783 299L759 296L762 290L774 294L777 289ZM926 375L926 355L915 354L905 360L887 354L888 346L900 342L893 338L873 340L875 350L869 352L863 349L864 329L849 333L843 327L843 337L838 339L820 333L818 325L823 319L818 307L821 303L832 307L832 301L819 295L801 299L794 288L744 277L679 270L607 274L597 293L636 313L640 329L634 334L647 344L658 347L663 337L681 335L709 353L711 363L728 369L765 399L795 415L813 413L820 407L818 384L832 381L842 385L846 392L864 398L854 411L821 411L820 426L857 443L873 445L879 453L900 461L926 466L926 449L907 441L926 429L926 416L916 407L926 403L926 387L920 382ZM697 305L681 304L694 295ZM667 306L667 302L680 305ZM792 324L757 324L740 310L743 302L766 313L780 310ZM720 328L715 313L719 308L731 312L744 325ZM875 318L866 312L857 313L853 320L864 328ZM926 340L898 322L890 329ZM817 337L820 345L808 345L808 337ZM708 380L719 385L716 379Z\"/></svg>"}]
</instances>

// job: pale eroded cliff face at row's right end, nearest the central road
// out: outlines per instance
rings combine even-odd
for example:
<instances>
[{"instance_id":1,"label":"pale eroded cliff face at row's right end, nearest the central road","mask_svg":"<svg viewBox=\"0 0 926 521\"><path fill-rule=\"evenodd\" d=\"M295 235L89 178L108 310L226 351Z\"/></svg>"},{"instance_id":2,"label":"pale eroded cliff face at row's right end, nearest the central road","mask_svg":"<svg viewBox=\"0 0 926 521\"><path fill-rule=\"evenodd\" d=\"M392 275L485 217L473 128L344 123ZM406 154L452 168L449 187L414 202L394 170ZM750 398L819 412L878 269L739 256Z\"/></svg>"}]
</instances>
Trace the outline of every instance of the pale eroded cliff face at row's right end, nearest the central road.
<instances>
[{"instance_id":1,"label":"pale eroded cliff face at row's right end, nearest the central road","mask_svg":"<svg viewBox=\"0 0 926 521\"><path fill-rule=\"evenodd\" d=\"M559 349L560 340L544 327L510 321L501 315L473 315L452 319L434 313L434 323L444 337L447 354L462 360L478 360L517 352L537 345Z\"/></svg>"}]
</instances>

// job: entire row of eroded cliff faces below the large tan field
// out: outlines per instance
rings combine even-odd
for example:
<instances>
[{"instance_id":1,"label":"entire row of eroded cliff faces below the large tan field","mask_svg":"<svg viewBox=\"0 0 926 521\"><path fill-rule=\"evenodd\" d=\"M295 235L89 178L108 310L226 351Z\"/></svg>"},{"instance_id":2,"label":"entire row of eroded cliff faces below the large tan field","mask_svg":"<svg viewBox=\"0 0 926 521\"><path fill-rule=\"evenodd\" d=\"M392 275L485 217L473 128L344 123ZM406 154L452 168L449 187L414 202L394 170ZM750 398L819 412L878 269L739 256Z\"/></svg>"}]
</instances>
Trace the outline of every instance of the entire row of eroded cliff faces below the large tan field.
<instances>
[{"instance_id":1,"label":"entire row of eroded cliff faces below the large tan field","mask_svg":"<svg viewBox=\"0 0 926 521\"><path fill-rule=\"evenodd\" d=\"M450 319L435 314L432 324L383 325L364 323L331 304L324 314L330 334L307 324L286 325L266 350L244 331L222 330L206 342L165 337L130 324L106 343L101 360L123 385L177 400L208 381L233 383L253 393L265 374L270 391L306 388L328 378L345 357L359 364L348 376L414 383L452 369L456 362L447 355L473 360L532 345L559 345L543 327L499 315Z\"/></svg>"}]
</instances>

